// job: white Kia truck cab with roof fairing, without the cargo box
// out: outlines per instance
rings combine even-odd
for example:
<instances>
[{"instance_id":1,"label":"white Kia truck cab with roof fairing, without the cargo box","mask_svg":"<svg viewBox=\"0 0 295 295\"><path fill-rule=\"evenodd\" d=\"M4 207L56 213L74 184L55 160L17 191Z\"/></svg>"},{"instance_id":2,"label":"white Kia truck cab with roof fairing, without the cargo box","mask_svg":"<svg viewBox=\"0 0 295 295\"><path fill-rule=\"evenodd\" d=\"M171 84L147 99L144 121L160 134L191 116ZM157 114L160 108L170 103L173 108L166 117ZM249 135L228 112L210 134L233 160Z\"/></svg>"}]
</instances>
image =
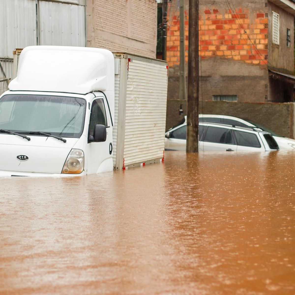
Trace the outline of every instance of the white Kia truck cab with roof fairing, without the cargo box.
<instances>
[{"instance_id":1,"label":"white Kia truck cab with roof fairing, without the cargo box","mask_svg":"<svg viewBox=\"0 0 295 295\"><path fill-rule=\"evenodd\" d=\"M0 176L112 171L113 118L109 50L26 47L0 97Z\"/></svg>"}]
</instances>

